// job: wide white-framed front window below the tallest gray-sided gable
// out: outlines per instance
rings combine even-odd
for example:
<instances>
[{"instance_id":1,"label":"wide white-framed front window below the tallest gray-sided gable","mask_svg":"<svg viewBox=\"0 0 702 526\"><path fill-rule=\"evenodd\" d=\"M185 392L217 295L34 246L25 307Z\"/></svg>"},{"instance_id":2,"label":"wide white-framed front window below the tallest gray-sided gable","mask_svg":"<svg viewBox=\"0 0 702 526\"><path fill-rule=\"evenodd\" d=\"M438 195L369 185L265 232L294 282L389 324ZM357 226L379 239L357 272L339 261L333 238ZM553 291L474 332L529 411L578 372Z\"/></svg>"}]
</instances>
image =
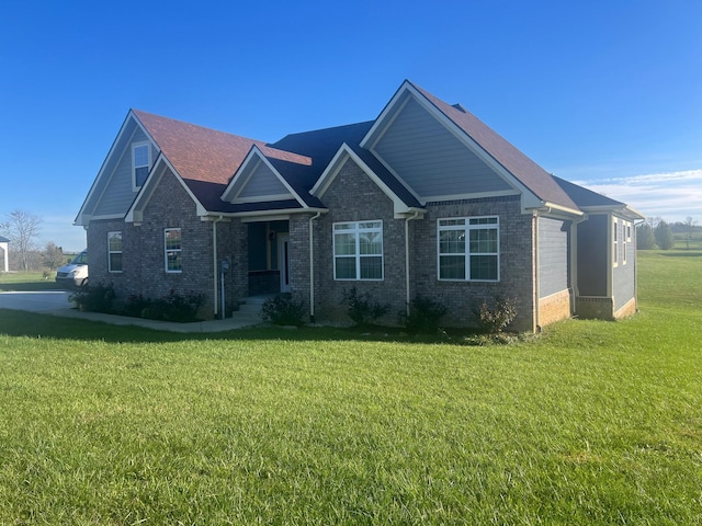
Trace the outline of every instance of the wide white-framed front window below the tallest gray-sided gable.
<instances>
[{"instance_id":1,"label":"wide white-framed front window below the tallest gray-sided gable","mask_svg":"<svg viewBox=\"0 0 702 526\"><path fill-rule=\"evenodd\" d=\"M499 219L439 219L439 279L498 282Z\"/></svg>"}]
</instances>

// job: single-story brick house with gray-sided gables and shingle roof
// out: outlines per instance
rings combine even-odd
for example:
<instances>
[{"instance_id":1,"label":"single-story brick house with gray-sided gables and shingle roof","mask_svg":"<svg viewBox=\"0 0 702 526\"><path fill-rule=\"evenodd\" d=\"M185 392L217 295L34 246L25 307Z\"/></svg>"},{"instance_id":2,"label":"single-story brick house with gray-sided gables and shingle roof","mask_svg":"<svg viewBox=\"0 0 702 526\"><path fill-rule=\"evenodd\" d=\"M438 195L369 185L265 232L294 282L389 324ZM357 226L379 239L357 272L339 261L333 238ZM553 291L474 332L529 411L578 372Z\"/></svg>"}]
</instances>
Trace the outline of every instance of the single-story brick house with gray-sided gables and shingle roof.
<instances>
[{"instance_id":1,"label":"single-story brick house with gray-sided gables and shingle roof","mask_svg":"<svg viewBox=\"0 0 702 526\"><path fill-rule=\"evenodd\" d=\"M643 216L555 178L478 121L405 81L374 121L276 142L128 112L76 219L93 283L118 297L197 291L214 317L290 293L347 319L355 286L422 296L449 325L510 297L516 330L636 310Z\"/></svg>"}]
</instances>

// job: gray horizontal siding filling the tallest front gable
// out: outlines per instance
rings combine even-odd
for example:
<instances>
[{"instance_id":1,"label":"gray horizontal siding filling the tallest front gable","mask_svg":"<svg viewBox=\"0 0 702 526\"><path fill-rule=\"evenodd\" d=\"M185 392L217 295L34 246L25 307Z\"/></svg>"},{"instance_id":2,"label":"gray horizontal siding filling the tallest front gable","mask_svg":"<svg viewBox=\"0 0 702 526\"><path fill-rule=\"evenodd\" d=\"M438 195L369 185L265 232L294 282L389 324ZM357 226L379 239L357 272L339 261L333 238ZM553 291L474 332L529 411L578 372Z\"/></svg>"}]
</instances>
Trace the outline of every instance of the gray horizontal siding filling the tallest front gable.
<instances>
[{"instance_id":1,"label":"gray horizontal siding filling the tallest front gable","mask_svg":"<svg viewBox=\"0 0 702 526\"><path fill-rule=\"evenodd\" d=\"M375 145L375 152L420 197L510 190L414 99Z\"/></svg>"}]
</instances>

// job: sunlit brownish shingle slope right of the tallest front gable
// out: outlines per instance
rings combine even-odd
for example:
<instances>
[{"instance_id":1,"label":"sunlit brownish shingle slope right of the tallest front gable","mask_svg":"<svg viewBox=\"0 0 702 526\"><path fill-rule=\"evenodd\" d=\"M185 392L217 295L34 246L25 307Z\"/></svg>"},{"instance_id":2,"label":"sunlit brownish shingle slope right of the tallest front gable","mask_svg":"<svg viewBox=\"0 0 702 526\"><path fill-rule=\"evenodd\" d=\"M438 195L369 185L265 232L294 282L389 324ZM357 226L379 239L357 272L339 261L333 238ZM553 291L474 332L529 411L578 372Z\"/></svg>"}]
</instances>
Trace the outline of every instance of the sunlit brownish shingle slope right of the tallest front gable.
<instances>
[{"instance_id":1,"label":"sunlit brownish shingle slope right of the tallest front gable","mask_svg":"<svg viewBox=\"0 0 702 526\"><path fill-rule=\"evenodd\" d=\"M553 175L518 150L492 128L478 119L460 104L451 105L428 91L409 82L441 113L453 121L463 132L475 140L497 162L507 169L540 199L577 210L577 205L555 182Z\"/></svg>"}]
</instances>

